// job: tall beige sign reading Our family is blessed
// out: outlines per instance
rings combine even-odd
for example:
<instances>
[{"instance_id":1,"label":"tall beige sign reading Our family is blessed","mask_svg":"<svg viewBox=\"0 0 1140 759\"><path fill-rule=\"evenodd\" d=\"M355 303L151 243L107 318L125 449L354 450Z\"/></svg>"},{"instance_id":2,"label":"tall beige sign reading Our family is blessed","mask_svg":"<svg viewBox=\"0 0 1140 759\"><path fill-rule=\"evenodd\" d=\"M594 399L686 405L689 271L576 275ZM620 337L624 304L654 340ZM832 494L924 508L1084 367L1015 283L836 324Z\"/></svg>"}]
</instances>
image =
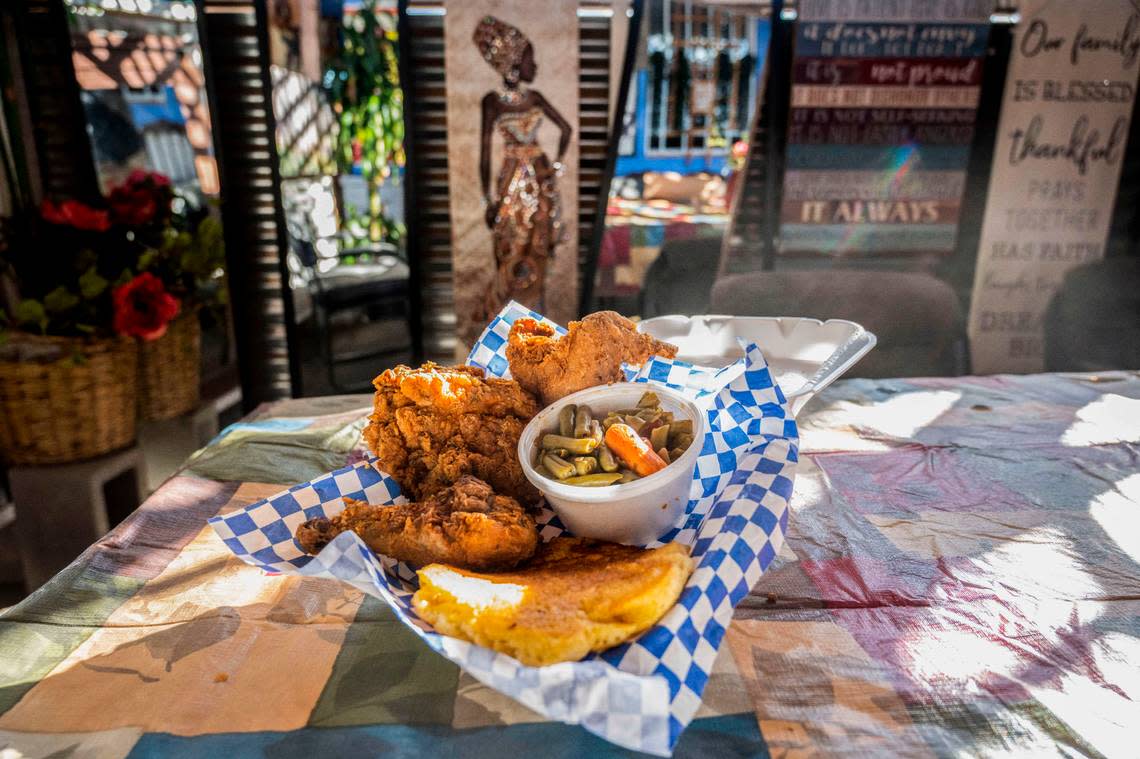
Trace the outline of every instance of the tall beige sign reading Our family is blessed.
<instances>
[{"instance_id":1,"label":"tall beige sign reading Our family is blessed","mask_svg":"<svg viewBox=\"0 0 1140 759\"><path fill-rule=\"evenodd\" d=\"M1135 99L1130 0L1024 0L994 147L970 308L976 374L1044 369L1065 275L1104 258Z\"/></svg>"}]
</instances>

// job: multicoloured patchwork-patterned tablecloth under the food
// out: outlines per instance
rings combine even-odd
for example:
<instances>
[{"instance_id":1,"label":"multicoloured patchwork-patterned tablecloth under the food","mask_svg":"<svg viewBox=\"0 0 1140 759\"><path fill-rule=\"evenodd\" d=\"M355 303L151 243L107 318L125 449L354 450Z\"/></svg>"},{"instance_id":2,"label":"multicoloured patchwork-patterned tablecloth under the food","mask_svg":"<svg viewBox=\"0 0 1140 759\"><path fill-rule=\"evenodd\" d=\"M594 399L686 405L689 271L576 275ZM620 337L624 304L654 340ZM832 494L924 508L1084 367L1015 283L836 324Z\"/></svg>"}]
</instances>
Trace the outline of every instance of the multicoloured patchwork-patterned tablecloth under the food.
<instances>
[{"instance_id":1,"label":"multicoloured patchwork-patterned tablecloth under the food","mask_svg":"<svg viewBox=\"0 0 1140 759\"><path fill-rule=\"evenodd\" d=\"M355 460L366 409L262 408L0 615L0 757L627 753L206 527ZM801 431L677 756L1135 756L1140 375L849 381Z\"/></svg>"}]
</instances>

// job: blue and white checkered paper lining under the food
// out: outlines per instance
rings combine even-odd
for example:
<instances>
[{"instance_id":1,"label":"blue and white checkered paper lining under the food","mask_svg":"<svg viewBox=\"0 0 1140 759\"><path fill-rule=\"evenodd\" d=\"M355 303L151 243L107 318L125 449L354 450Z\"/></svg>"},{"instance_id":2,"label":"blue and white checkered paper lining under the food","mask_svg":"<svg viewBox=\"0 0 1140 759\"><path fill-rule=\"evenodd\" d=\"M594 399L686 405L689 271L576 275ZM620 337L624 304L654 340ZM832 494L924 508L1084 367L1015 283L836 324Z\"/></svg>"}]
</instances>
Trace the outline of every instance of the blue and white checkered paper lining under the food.
<instances>
[{"instance_id":1,"label":"blue and white checkered paper lining under the food","mask_svg":"<svg viewBox=\"0 0 1140 759\"><path fill-rule=\"evenodd\" d=\"M542 319L512 302L483 332L467 362L508 376L506 335L522 316ZM783 544L799 438L783 392L755 344L719 370L653 358L640 369L627 368L626 375L630 382L678 389L708 415L689 507L662 538L691 546L697 569L677 605L653 628L583 661L526 667L439 635L412 607L414 571L377 557L351 532L337 536L316 557L302 554L293 540L298 525L339 513L342 498L375 505L401 500L396 482L377 472L374 462L337 470L210 522L250 564L336 578L383 598L431 648L530 709L580 724L618 745L669 756L700 705L733 609ZM539 522L544 539L563 532L549 511Z\"/></svg>"}]
</instances>

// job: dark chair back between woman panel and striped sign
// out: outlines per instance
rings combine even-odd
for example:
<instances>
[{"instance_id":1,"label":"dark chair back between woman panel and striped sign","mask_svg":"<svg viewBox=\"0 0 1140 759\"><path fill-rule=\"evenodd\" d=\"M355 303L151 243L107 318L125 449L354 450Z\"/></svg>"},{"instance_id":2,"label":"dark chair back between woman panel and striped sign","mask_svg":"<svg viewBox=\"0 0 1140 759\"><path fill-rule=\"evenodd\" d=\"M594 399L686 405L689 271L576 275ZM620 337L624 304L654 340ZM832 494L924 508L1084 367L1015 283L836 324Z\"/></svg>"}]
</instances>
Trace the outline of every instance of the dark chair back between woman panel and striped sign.
<instances>
[{"instance_id":1,"label":"dark chair back between woman panel and striped sign","mask_svg":"<svg viewBox=\"0 0 1140 759\"><path fill-rule=\"evenodd\" d=\"M723 237L670 239L661 246L642 285L637 312L644 319L708 312Z\"/></svg>"}]
</instances>

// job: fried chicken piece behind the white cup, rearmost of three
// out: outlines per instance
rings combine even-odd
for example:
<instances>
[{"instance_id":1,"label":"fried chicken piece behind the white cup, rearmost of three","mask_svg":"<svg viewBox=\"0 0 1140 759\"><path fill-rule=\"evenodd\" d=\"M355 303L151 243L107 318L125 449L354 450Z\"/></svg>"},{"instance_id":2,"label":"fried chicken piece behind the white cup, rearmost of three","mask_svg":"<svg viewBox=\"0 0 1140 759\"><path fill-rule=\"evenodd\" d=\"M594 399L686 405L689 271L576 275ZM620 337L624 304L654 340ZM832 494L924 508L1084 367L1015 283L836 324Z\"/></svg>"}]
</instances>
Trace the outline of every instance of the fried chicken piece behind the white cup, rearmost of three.
<instances>
[{"instance_id":1,"label":"fried chicken piece behind the white cup, rearmost of three","mask_svg":"<svg viewBox=\"0 0 1140 759\"><path fill-rule=\"evenodd\" d=\"M548 325L519 319L511 326L506 360L511 376L549 406L570 393L621 382L621 362L640 366L651 356L673 358L677 346L637 332L614 311L597 311L571 321L557 337Z\"/></svg>"}]
</instances>

